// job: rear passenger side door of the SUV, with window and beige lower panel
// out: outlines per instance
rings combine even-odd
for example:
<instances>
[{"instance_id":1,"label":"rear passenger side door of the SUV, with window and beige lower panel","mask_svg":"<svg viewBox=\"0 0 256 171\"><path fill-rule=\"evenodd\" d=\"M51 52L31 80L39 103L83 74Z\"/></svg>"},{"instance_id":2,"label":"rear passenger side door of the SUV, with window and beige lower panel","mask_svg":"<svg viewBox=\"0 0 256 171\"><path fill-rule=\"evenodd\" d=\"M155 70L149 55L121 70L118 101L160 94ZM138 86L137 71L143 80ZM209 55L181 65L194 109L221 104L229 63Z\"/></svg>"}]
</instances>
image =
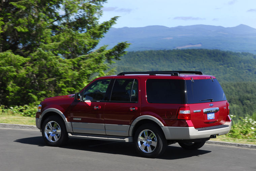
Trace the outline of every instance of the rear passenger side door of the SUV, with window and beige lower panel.
<instances>
[{"instance_id":1,"label":"rear passenger side door of the SUV, with window and beige lower panel","mask_svg":"<svg viewBox=\"0 0 256 171\"><path fill-rule=\"evenodd\" d=\"M110 100L106 101L104 123L107 135L128 136L129 128L140 114L139 79L122 77L115 79Z\"/></svg>"}]
</instances>

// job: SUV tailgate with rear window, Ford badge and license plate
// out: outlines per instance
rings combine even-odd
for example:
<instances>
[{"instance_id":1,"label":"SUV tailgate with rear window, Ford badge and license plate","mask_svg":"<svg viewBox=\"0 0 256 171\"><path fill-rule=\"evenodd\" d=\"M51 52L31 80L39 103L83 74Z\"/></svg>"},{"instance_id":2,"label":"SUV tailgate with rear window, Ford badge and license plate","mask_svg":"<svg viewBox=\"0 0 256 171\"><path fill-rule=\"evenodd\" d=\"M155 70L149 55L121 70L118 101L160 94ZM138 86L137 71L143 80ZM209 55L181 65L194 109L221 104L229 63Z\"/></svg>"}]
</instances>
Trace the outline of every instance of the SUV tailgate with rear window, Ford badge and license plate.
<instances>
[{"instance_id":1,"label":"SUV tailgate with rear window, Ford badge and license plate","mask_svg":"<svg viewBox=\"0 0 256 171\"><path fill-rule=\"evenodd\" d=\"M186 80L186 88L195 128L221 125L226 121L227 100L217 79Z\"/></svg>"}]
</instances>

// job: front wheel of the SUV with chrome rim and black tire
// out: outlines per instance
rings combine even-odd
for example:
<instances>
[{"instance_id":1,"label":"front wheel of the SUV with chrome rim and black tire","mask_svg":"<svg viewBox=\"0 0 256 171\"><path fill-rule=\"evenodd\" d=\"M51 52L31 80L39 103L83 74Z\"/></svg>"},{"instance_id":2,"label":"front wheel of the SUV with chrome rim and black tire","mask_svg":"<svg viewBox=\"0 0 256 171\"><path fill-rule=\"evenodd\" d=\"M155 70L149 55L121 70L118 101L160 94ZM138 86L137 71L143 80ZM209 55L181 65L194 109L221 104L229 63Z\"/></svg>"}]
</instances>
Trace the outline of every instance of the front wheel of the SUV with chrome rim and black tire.
<instances>
[{"instance_id":1,"label":"front wheel of the SUV with chrome rim and black tire","mask_svg":"<svg viewBox=\"0 0 256 171\"><path fill-rule=\"evenodd\" d=\"M65 123L58 116L46 118L42 125L42 136L47 145L64 145L68 140Z\"/></svg>"}]
</instances>

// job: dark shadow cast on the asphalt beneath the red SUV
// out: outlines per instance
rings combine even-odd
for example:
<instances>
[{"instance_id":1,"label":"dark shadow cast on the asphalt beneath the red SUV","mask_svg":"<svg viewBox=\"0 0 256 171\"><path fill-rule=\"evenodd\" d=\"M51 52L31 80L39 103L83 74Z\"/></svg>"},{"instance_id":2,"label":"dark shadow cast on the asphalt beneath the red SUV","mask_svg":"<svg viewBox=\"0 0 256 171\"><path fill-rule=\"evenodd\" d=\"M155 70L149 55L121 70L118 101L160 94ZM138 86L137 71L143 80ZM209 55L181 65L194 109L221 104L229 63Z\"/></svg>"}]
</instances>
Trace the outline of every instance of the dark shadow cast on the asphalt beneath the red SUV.
<instances>
[{"instance_id":1,"label":"dark shadow cast on the asphalt beneath the red SUV","mask_svg":"<svg viewBox=\"0 0 256 171\"><path fill-rule=\"evenodd\" d=\"M38 145L39 147L47 146L41 136L17 139L14 142ZM135 146L133 142L115 142L70 138L67 144L61 146L60 148L140 157L135 151ZM164 160L175 160L189 158L193 156L200 156L207 153L211 153L211 151L206 151L202 149L185 150L179 146L168 145L165 153L157 158Z\"/></svg>"}]
</instances>

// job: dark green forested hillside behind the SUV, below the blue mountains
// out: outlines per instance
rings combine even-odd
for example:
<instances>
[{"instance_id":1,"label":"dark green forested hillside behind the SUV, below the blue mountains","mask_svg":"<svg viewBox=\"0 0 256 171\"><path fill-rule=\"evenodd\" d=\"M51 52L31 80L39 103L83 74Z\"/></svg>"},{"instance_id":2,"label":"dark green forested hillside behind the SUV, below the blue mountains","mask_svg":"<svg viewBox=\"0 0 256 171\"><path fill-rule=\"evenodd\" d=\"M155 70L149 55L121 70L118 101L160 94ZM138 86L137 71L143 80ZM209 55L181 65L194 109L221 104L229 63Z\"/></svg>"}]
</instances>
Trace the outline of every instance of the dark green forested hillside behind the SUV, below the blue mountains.
<instances>
[{"instance_id":1,"label":"dark green forested hillside behind the SUV, below the blue mountains","mask_svg":"<svg viewBox=\"0 0 256 171\"><path fill-rule=\"evenodd\" d=\"M227 96L231 114L256 112L256 55L230 51L186 49L128 52L111 67L124 71L202 71L215 76Z\"/></svg>"}]
</instances>

